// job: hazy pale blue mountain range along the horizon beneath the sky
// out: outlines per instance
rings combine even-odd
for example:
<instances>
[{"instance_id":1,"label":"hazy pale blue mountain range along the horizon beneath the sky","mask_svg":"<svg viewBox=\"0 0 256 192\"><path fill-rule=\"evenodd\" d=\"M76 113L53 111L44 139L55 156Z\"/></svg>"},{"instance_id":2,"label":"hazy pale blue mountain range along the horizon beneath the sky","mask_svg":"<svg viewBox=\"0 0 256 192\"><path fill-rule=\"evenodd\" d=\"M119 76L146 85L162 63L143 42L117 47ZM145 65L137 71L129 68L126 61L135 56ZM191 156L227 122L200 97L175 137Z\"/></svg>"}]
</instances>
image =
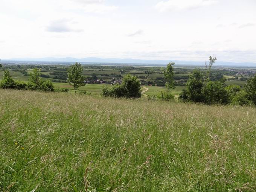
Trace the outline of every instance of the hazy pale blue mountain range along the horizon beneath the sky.
<instances>
[{"instance_id":1,"label":"hazy pale blue mountain range along the horizon beneath the sky","mask_svg":"<svg viewBox=\"0 0 256 192\"><path fill-rule=\"evenodd\" d=\"M3 60L4 61L4 60ZM188 66L201 66L204 65L205 62L202 61L178 61L178 60L144 60L144 59L118 59L118 58L97 58L97 57L88 57L88 58L54 58L54 57L46 57L46 58L13 58L13 59L5 59L5 61L38 61L38 62L81 62L81 63L97 63L97 64L141 64L141 65L153 65L153 66L165 66L170 61L175 62L177 65L188 65ZM217 61L215 66L247 66L247 67L256 67L256 63L254 62L222 62Z\"/></svg>"}]
</instances>

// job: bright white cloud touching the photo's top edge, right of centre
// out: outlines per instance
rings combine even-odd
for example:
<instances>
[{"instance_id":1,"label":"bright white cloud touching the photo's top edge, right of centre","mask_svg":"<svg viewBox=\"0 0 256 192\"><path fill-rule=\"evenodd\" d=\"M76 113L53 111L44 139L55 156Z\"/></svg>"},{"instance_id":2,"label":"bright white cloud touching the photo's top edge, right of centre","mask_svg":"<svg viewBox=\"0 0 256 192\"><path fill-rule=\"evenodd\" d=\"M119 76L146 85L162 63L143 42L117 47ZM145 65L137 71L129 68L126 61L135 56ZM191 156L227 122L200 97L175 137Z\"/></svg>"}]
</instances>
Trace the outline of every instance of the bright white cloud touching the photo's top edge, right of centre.
<instances>
[{"instance_id":1,"label":"bright white cloud touching the photo's top edge, right of centre","mask_svg":"<svg viewBox=\"0 0 256 192\"><path fill-rule=\"evenodd\" d=\"M168 0L161 1L155 6L158 11L181 11L184 9L197 9L218 3L217 0Z\"/></svg>"}]
</instances>

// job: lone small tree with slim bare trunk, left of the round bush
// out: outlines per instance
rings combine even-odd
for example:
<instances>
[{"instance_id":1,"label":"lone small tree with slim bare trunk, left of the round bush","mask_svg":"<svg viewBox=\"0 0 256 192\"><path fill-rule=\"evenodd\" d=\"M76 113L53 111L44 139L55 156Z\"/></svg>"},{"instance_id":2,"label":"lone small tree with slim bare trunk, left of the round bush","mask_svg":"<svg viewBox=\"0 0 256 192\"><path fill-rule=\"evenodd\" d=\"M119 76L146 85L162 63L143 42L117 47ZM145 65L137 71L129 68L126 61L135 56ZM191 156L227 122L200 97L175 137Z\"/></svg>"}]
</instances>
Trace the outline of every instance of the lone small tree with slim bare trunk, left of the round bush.
<instances>
[{"instance_id":1,"label":"lone small tree with slim bare trunk, left of the round bush","mask_svg":"<svg viewBox=\"0 0 256 192\"><path fill-rule=\"evenodd\" d=\"M69 69L67 69L67 81L70 85L72 85L76 91L79 87L84 86L84 77L81 75L83 68L80 63L76 62L74 65L71 65Z\"/></svg>"}]
</instances>

